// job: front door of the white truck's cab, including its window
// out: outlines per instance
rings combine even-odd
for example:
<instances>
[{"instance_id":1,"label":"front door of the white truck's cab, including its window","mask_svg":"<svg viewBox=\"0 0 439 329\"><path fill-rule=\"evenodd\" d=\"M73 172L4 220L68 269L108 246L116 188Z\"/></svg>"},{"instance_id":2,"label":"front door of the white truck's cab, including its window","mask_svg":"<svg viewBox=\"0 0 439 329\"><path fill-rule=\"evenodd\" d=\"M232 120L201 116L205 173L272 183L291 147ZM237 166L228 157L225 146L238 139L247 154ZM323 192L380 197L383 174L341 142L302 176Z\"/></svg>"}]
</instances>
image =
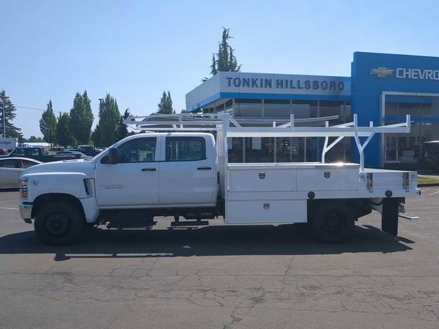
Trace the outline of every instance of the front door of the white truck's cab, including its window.
<instances>
[{"instance_id":1,"label":"front door of the white truck's cab, including its window","mask_svg":"<svg viewBox=\"0 0 439 329\"><path fill-rule=\"evenodd\" d=\"M160 137L142 137L117 147L117 164L106 157L96 164L95 191L99 206L158 205Z\"/></svg>"}]
</instances>

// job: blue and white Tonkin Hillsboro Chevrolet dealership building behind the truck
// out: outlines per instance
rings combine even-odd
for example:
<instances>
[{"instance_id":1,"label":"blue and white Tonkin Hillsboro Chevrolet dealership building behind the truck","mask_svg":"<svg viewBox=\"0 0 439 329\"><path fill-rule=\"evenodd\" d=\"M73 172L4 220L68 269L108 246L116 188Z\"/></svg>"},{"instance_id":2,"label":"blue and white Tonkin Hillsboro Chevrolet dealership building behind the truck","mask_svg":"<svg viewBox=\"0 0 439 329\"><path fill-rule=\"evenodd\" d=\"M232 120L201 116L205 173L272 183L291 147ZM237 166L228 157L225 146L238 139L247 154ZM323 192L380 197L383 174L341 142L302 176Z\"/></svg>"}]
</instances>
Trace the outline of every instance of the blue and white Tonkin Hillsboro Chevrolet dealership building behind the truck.
<instances>
[{"instance_id":1,"label":"blue and white Tonkin Hillsboro Chevrolet dealership building behind the truck","mask_svg":"<svg viewBox=\"0 0 439 329\"><path fill-rule=\"evenodd\" d=\"M367 167L416 161L425 141L439 140L439 58L355 52L351 77L219 72L186 95L187 112L230 113L241 125L388 125L411 114L410 134L375 136L364 153ZM380 134L379 134L380 135ZM357 161L350 138L330 161ZM318 161L322 138L233 138L230 162Z\"/></svg>"}]
</instances>

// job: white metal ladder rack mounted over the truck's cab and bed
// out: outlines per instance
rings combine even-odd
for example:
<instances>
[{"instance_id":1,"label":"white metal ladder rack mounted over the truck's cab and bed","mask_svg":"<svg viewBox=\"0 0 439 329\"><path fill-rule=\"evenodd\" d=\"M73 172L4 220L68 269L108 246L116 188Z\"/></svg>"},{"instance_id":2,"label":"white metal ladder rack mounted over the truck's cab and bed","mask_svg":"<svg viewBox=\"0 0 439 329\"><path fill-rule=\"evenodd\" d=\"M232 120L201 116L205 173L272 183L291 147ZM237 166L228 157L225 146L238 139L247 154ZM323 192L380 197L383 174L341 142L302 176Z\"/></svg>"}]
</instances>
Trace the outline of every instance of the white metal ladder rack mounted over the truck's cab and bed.
<instances>
[{"instance_id":1,"label":"white metal ladder rack mounted over the truck's cab and bed","mask_svg":"<svg viewBox=\"0 0 439 329\"><path fill-rule=\"evenodd\" d=\"M129 117L123 121L133 130L144 132L215 131L217 132L217 143L220 138L223 139L222 147L225 147L223 151L226 163L228 137L324 137L323 163L327 151L344 137L353 137L359 152L361 172L364 171L364 149L375 134L408 133L411 124L410 114L407 114L403 123L376 127L372 121L370 121L369 126L359 127L357 114L353 114L352 122L340 125L329 126L329 121L325 121L324 127L296 127L294 122L294 114L290 116L289 122L277 125L276 121L272 121L270 127L243 127L230 114L150 114L143 117ZM366 141L361 142L360 137L366 137ZM328 145L329 138L335 138L335 141Z\"/></svg>"}]
</instances>

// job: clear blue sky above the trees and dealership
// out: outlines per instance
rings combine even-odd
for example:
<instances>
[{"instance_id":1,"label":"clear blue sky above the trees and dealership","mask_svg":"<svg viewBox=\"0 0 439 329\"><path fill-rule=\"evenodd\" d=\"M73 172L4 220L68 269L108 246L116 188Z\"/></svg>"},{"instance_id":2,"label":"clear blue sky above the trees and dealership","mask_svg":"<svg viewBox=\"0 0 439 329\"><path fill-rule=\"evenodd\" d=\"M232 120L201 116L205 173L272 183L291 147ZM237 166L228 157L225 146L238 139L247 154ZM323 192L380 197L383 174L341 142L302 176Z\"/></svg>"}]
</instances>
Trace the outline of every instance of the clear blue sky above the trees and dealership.
<instances>
[{"instance_id":1,"label":"clear blue sky above the trees and dealership","mask_svg":"<svg viewBox=\"0 0 439 329\"><path fill-rule=\"evenodd\" d=\"M95 123L107 92L121 112L143 115L170 90L180 112L209 75L223 26L246 72L349 76L354 51L439 56L439 1L0 0L0 8L0 89L16 106L45 109L51 99L62 112L86 89ZM41 112L16 114L25 137L41 136Z\"/></svg>"}]
</instances>

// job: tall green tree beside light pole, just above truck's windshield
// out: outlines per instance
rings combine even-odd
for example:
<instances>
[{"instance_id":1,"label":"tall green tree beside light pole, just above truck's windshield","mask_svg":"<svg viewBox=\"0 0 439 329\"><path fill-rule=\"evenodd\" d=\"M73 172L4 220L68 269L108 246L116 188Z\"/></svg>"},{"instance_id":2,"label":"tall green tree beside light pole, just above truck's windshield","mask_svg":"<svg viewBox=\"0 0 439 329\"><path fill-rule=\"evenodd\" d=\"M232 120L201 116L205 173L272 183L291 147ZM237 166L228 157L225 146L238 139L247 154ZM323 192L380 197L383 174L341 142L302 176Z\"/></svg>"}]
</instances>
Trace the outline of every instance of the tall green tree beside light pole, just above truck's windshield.
<instances>
[{"instance_id":1,"label":"tall green tree beside light pole, just above truck's windshield","mask_svg":"<svg viewBox=\"0 0 439 329\"><path fill-rule=\"evenodd\" d=\"M91 135L94 145L106 147L118 141L120 117L116 99L107 93L104 100L99 103L99 123Z\"/></svg>"}]
</instances>

